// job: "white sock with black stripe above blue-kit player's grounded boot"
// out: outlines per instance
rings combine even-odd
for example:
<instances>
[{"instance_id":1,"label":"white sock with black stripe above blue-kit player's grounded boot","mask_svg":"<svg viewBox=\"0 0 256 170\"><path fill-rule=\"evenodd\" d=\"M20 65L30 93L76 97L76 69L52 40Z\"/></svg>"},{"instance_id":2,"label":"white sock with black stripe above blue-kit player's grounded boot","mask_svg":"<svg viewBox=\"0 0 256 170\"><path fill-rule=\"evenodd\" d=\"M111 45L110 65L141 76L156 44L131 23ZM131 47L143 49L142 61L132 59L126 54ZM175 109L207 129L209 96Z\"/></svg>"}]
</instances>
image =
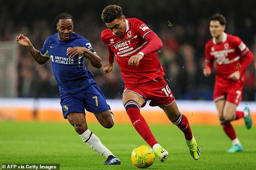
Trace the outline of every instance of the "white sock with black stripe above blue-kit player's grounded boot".
<instances>
[{"instance_id":1,"label":"white sock with black stripe above blue-kit player's grounded boot","mask_svg":"<svg viewBox=\"0 0 256 170\"><path fill-rule=\"evenodd\" d=\"M89 129L87 129L82 135L79 135L79 136L82 138L84 143L86 143L88 146L90 146L90 148L92 148L92 150L98 152L99 154L105 156L106 158L109 155L113 155L110 152L110 150L108 150L107 147L105 147L101 143L101 140L99 139L99 137L94 135L94 133L92 133L92 131L90 131Z\"/></svg>"}]
</instances>

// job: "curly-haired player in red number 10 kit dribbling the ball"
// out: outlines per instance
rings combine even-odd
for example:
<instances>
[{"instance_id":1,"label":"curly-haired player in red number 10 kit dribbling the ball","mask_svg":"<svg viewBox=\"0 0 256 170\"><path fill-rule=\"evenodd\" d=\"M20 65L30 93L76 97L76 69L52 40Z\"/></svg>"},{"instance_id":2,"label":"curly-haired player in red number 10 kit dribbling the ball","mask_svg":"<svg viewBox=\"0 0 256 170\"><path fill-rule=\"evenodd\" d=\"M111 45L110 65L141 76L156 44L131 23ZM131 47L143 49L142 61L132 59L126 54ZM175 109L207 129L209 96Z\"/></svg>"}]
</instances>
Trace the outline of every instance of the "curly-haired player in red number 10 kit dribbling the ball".
<instances>
[{"instance_id":1,"label":"curly-haired player in red number 10 kit dribbling the ball","mask_svg":"<svg viewBox=\"0 0 256 170\"><path fill-rule=\"evenodd\" d=\"M116 57L125 84L123 104L136 131L153 148L160 161L165 162L168 151L158 144L140 113L141 107L151 100L150 106L163 109L168 119L183 131L191 156L198 160L200 150L189 121L179 112L174 96L162 77L164 70L155 53L162 47L162 41L141 20L125 18L120 6L105 7L101 18L108 28L101 33L109 54L109 63L103 70L109 74Z\"/></svg>"}]
</instances>

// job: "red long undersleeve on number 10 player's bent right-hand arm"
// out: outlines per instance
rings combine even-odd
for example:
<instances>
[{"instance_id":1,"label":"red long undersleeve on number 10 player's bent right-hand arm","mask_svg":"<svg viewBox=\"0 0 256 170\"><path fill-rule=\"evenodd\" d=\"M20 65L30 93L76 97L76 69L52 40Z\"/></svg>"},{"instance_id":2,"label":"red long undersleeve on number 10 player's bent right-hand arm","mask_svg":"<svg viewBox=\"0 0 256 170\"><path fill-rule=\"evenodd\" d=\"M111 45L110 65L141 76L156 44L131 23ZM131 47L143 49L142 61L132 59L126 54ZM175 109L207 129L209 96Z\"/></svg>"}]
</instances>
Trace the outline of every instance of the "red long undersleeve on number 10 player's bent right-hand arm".
<instances>
[{"instance_id":1,"label":"red long undersleeve on number 10 player's bent right-hand arm","mask_svg":"<svg viewBox=\"0 0 256 170\"><path fill-rule=\"evenodd\" d=\"M154 53L155 51L163 47L161 39L153 31L148 33L144 39L148 42L147 47L140 51L143 52L144 55Z\"/></svg>"}]
</instances>

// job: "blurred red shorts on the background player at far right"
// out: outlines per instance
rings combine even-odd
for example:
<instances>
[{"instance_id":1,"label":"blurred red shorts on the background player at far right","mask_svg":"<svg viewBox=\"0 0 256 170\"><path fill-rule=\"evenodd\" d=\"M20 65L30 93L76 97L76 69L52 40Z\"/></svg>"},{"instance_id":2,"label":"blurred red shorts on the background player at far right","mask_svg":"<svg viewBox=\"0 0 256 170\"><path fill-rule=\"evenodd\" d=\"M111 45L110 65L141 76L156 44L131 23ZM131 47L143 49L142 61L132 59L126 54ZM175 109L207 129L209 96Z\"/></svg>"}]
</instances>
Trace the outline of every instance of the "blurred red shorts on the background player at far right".
<instances>
[{"instance_id":1,"label":"blurred red shorts on the background player at far right","mask_svg":"<svg viewBox=\"0 0 256 170\"><path fill-rule=\"evenodd\" d=\"M214 102L226 98L226 101L238 105L242 100L243 83L230 82L218 83L214 85L213 100Z\"/></svg>"}]
</instances>

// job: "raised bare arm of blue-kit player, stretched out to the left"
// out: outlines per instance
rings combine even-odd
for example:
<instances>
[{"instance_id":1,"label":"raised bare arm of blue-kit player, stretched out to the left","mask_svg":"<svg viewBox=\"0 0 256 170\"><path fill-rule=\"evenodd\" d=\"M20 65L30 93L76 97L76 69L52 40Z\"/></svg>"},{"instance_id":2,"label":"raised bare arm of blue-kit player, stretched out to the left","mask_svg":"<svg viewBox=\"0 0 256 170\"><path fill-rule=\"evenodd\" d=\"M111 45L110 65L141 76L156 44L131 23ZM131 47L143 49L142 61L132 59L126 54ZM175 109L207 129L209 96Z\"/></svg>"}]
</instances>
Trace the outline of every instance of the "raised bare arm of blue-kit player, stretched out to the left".
<instances>
[{"instance_id":1,"label":"raised bare arm of blue-kit player, stretched out to the left","mask_svg":"<svg viewBox=\"0 0 256 170\"><path fill-rule=\"evenodd\" d=\"M31 54L31 56L35 59L36 62L39 64L44 64L49 58L43 57L39 50L35 49L34 46L31 44L30 40L24 36L23 34L17 35L16 41L24 46L27 47L27 50Z\"/></svg>"}]
</instances>

